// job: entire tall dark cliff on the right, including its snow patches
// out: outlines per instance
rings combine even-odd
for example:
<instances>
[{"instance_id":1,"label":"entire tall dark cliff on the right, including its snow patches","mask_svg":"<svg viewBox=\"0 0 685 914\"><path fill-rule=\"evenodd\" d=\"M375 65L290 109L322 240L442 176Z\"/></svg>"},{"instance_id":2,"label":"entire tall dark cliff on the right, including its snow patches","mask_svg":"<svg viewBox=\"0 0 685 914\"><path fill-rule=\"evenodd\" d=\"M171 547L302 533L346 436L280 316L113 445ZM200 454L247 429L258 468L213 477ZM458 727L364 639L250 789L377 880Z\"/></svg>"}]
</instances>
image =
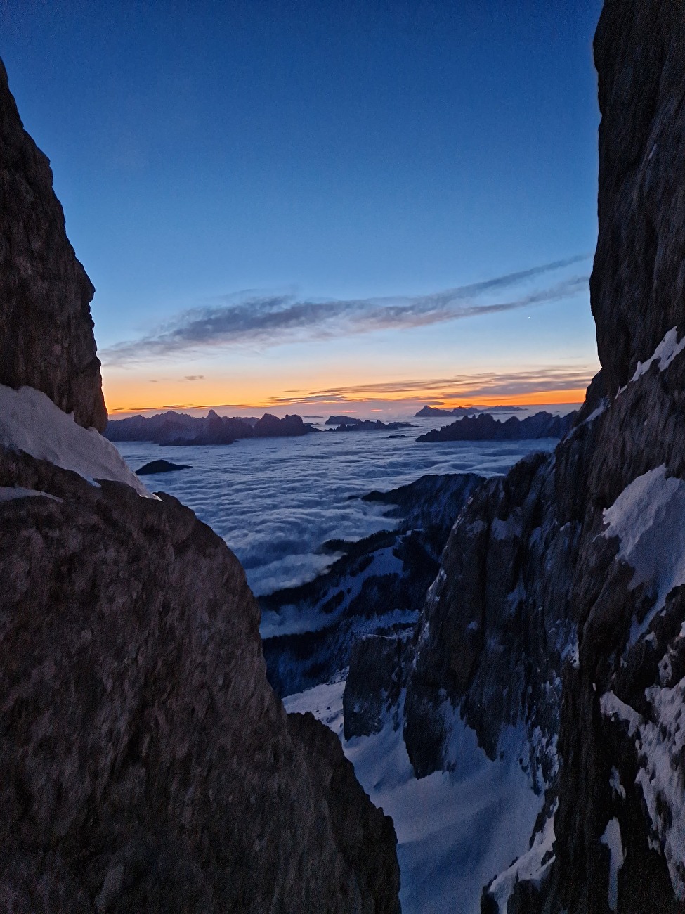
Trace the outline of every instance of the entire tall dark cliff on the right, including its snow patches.
<instances>
[{"instance_id":1,"label":"entire tall dark cliff on the right, including its snow patches","mask_svg":"<svg viewBox=\"0 0 685 914\"><path fill-rule=\"evenodd\" d=\"M419 775L457 764L458 717L490 758L520 753L542 808L488 914L685 902L682 5L606 0L595 62L601 375L552 455L472 496L411 661L374 686L405 677Z\"/></svg>"}]
</instances>

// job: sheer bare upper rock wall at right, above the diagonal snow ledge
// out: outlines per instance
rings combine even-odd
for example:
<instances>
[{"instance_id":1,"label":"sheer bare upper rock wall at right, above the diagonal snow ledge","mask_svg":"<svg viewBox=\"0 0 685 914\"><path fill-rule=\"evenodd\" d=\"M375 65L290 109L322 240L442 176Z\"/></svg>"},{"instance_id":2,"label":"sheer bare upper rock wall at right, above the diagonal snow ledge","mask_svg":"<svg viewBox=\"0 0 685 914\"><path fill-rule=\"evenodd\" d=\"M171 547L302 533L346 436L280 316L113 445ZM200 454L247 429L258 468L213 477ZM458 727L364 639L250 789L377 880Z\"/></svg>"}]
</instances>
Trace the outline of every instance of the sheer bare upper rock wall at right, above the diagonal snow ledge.
<instances>
[{"instance_id":1,"label":"sheer bare upper rock wall at right, above the diagonal snow ledge","mask_svg":"<svg viewBox=\"0 0 685 914\"><path fill-rule=\"evenodd\" d=\"M682 320L684 16L672 0L607 0L595 35L602 122L591 289L612 394Z\"/></svg>"}]
</instances>

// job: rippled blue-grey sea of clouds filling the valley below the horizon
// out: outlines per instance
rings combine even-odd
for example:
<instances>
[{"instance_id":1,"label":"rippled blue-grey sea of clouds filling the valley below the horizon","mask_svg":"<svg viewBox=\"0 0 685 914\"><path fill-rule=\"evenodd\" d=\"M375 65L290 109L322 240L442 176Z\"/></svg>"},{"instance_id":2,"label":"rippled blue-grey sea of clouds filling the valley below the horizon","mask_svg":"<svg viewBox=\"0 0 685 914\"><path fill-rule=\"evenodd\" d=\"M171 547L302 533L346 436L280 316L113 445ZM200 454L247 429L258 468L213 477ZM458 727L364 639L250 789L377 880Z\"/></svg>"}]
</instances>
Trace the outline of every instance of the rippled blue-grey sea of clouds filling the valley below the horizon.
<instances>
[{"instance_id":1,"label":"rippled blue-grey sea of clouds filling the valley below the horizon","mask_svg":"<svg viewBox=\"0 0 685 914\"><path fill-rule=\"evenodd\" d=\"M521 415L521 414L520 414ZM424 473L506 473L554 440L417 442L449 419L413 419L402 432L365 431L303 438L247 439L225 447L117 444L133 470L163 458L189 463L178 473L144 476L153 492L174 495L211 526L243 563L259 596L315 578L337 556L329 539L360 539L392 529L385 505L355 495L411 483ZM406 434L406 438L390 437Z\"/></svg>"}]
</instances>

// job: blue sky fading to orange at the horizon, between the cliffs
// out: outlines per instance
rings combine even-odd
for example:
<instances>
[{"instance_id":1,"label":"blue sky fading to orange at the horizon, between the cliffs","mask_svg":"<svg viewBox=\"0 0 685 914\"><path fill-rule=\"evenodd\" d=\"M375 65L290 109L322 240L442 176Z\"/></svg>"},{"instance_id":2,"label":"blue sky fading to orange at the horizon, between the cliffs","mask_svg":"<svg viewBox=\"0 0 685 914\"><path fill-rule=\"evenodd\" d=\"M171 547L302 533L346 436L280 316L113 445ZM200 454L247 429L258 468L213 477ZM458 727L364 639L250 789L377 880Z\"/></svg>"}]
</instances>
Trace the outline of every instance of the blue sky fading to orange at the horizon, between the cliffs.
<instances>
[{"instance_id":1,"label":"blue sky fading to orange at the horizon, between the cliffs","mask_svg":"<svg viewBox=\"0 0 685 914\"><path fill-rule=\"evenodd\" d=\"M112 417L565 403L598 0L4 0Z\"/></svg>"}]
</instances>

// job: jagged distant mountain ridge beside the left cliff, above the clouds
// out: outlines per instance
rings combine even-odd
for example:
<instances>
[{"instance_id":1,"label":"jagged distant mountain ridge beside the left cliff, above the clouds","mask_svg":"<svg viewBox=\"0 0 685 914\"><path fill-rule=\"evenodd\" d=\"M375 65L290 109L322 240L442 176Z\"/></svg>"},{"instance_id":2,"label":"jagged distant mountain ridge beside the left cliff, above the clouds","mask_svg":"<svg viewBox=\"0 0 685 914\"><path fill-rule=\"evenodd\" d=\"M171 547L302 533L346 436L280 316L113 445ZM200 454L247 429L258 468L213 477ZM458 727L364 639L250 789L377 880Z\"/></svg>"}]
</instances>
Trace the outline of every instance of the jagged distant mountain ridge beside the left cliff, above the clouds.
<instances>
[{"instance_id":1,"label":"jagged distant mountain ridge beside the left cliff, above the clouds","mask_svg":"<svg viewBox=\"0 0 685 914\"><path fill-rule=\"evenodd\" d=\"M153 441L165 447L188 444L232 444L242 438L290 438L317 429L300 416L279 419L264 413L261 419L219 416L210 409L204 417L169 409L155 416L111 420L104 431L110 441Z\"/></svg>"}]
</instances>

